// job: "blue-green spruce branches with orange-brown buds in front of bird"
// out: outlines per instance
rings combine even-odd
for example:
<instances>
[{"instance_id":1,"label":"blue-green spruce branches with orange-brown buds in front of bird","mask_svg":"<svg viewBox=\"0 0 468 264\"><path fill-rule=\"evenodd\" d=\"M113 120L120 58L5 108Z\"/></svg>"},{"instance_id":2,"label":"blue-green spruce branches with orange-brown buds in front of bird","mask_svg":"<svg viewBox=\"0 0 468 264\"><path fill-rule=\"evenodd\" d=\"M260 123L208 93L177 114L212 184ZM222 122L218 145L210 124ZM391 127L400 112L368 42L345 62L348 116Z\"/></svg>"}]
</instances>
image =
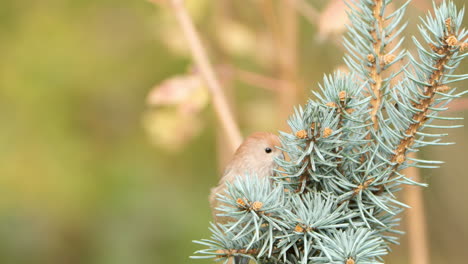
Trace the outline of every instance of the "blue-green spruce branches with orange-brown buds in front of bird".
<instances>
[{"instance_id":1,"label":"blue-green spruce branches with orange-brown buds in front of bird","mask_svg":"<svg viewBox=\"0 0 468 264\"><path fill-rule=\"evenodd\" d=\"M242 177L220 195L219 210L231 222L212 224L211 239L196 241L207 248L194 258L382 263L398 243L398 215L407 206L396 192L402 184L424 186L402 170L437 167L412 153L450 144L425 128L457 127L434 121L458 119L439 113L464 93L453 85L468 78L454 74L467 56L468 32L464 10L443 2L421 19L413 56L401 50L408 3L390 12L390 2L349 4L350 73L325 76L315 99L295 109L271 179Z\"/></svg>"}]
</instances>

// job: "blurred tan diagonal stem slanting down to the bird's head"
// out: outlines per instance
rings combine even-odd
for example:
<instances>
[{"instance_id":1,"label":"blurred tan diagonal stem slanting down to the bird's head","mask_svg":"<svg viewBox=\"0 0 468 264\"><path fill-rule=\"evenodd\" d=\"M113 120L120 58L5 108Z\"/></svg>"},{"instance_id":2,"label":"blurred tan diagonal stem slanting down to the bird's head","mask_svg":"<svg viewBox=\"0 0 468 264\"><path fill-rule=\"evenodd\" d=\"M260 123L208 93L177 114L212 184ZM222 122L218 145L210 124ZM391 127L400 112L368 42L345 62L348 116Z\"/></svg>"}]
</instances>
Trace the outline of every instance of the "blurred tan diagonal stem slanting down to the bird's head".
<instances>
[{"instance_id":1,"label":"blurred tan diagonal stem slanting down to the bird's head","mask_svg":"<svg viewBox=\"0 0 468 264\"><path fill-rule=\"evenodd\" d=\"M213 66L208 60L206 51L201 44L200 37L198 36L192 19L190 18L187 9L184 6L184 1L169 0L169 4L172 7L177 21L182 28L185 38L187 39L197 68L200 70L200 73L211 92L216 115L229 138L232 152L234 152L234 150L241 144L242 136L237 123L234 120L234 116L229 109L220 82L213 70Z\"/></svg>"}]
</instances>

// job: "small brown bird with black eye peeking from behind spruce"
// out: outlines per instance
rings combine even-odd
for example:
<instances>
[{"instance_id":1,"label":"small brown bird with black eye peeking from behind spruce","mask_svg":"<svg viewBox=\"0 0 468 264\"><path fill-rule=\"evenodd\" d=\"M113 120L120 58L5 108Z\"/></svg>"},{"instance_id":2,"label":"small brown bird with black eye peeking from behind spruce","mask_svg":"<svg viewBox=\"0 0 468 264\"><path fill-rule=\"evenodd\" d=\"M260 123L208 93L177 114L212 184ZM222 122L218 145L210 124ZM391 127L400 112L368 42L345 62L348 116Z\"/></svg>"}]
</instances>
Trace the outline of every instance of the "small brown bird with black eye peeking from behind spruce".
<instances>
[{"instance_id":1,"label":"small brown bird with black eye peeking from behind spruce","mask_svg":"<svg viewBox=\"0 0 468 264\"><path fill-rule=\"evenodd\" d=\"M233 182L238 176L252 175L260 178L272 176L276 167L274 158L283 156L282 151L276 148L280 145L278 136L268 132L255 132L239 146L218 186L211 189L210 206L216 223L224 224L229 221L228 217L216 215L220 213L216 208L222 205L216 194L224 193L226 182Z\"/></svg>"}]
</instances>

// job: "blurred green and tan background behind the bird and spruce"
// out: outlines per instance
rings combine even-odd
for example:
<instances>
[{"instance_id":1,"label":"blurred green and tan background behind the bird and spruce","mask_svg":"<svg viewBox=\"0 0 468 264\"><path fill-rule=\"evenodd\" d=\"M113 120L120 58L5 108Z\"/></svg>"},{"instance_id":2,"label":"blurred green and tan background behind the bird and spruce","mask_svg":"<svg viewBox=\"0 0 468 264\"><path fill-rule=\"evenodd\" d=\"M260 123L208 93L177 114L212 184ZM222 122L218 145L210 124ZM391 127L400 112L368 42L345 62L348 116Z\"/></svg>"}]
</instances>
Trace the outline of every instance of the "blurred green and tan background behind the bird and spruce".
<instances>
[{"instance_id":1,"label":"blurred green and tan background behind the bird and spruce","mask_svg":"<svg viewBox=\"0 0 468 264\"><path fill-rule=\"evenodd\" d=\"M302 103L342 67L336 1L309 1L318 13L301 8L283 34L281 1L186 2L244 135L285 129L280 79ZM413 1L408 35L429 7ZM230 153L196 72L168 6L1 0L0 263L210 263L188 258L191 240L209 236L209 188ZM148 99L158 89L169 99ZM421 172L431 263L468 259L468 130L449 132L456 145L421 153L446 161ZM393 249L387 263L409 263L405 237Z\"/></svg>"}]
</instances>

